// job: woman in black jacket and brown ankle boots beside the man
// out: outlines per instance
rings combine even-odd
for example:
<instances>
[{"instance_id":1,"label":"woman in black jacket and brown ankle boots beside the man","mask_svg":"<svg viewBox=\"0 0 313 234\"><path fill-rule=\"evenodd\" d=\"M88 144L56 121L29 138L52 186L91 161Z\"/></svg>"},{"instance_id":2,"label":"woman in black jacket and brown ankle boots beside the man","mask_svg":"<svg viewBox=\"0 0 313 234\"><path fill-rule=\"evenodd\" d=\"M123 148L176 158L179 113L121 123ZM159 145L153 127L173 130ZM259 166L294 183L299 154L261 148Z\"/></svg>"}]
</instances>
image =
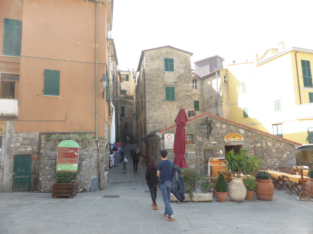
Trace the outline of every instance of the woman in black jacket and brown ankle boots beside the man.
<instances>
[{"instance_id":1,"label":"woman in black jacket and brown ankle boots beside the man","mask_svg":"<svg viewBox=\"0 0 313 234\"><path fill-rule=\"evenodd\" d=\"M146 180L147 185L150 190L151 199L152 199L152 206L154 210L157 210L157 204L156 204L156 191L157 187L159 185L159 177L156 175L157 171L157 164L156 160L151 157L148 162L148 166L146 169Z\"/></svg>"}]
</instances>

